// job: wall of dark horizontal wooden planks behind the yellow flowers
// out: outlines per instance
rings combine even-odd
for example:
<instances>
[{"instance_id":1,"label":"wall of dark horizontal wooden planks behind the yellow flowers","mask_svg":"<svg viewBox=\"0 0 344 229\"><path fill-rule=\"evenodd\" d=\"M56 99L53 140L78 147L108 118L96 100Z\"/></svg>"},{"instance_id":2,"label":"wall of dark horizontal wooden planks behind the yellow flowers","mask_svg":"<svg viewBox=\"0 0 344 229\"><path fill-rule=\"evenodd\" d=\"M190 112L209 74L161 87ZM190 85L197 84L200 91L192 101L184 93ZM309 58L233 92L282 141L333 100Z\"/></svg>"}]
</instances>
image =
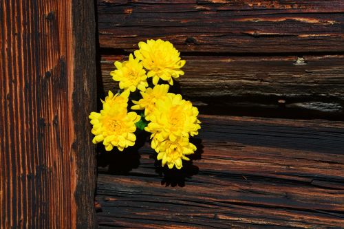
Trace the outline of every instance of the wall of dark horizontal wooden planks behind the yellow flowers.
<instances>
[{"instance_id":1,"label":"wall of dark horizontal wooden planks behind the yellow flowers","mask_svg":"<svg viewBox=\"0 0 344 229\"><path fill-rule=\"evenodd\" d=\"M206 114L182 171L147 144L98 150L100 228L343 227L344 1L96 7L100 96L117 89L114 61L160 38L186 59L179 90Z\"/></svg>"}]
</instances>

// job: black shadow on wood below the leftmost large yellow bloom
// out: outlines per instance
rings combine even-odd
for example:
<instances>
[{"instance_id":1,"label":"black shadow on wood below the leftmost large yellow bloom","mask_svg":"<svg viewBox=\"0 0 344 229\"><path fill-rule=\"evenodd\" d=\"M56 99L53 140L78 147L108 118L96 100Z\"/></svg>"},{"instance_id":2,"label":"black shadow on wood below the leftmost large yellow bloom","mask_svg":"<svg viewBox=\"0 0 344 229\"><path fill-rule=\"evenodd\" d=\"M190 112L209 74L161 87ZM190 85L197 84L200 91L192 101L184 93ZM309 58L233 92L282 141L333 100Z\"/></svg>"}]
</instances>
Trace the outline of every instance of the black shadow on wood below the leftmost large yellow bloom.
<instances>
[{"instance_id":1,"label":"black shadow on wood below the leftmost large yellow bloom","mask_svg":"<svg viewBox=\"0 0 344 229\"><path fill-rule=\"evenodd\" d=\"M136 144L122 152L118 151L118 149L105 151L103 145L98 146L98 168L105 168L102 172L111 175L127 175L131 170L133 170L133 168L138 168L141 158L138 153L138 149L144 145L148 134L145 131L142 131L140 133L136 133L136 135L138 136Z\"/></svg>"}]
</instances>

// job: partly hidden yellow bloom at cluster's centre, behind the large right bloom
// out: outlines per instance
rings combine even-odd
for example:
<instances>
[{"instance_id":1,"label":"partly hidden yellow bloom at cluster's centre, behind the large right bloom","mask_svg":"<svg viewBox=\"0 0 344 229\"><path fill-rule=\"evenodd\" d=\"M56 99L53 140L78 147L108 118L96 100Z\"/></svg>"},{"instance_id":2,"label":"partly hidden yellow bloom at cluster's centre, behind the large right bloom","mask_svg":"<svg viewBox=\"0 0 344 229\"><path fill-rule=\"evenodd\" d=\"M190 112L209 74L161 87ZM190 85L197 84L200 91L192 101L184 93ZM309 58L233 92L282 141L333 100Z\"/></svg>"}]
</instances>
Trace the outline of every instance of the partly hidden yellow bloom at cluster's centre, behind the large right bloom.
<instances>
[{"instance_id":1,"label":"partly hidden yellow bloom at cluster's centre, behind the large right bloom","mask_svg":"<svg viewBox=\"0 0 344 229\"><path fill-rule=\"evenodd\" d=\"M169 85L155 85L153 89L150 87L146 91L140 91L142 98L138 101L133 101L135 105L131 107L133 110L143 110L146 120L151 120L151 113L155 109L155 102L167 96L169 92Z\"/></svg>"}]
</instances>

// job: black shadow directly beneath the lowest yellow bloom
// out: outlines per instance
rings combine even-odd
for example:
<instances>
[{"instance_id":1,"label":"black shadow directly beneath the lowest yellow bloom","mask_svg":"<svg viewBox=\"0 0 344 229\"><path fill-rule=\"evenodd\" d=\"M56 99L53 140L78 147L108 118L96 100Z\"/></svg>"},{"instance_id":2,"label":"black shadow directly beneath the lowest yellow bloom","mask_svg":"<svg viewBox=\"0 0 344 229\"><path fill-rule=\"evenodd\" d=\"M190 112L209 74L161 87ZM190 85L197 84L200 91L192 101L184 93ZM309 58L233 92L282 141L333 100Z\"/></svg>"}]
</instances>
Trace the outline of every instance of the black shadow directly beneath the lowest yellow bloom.
<instances>
[{"instance_id":1,"label":"black shadow directly beneath the lowest yellow bloom","mask_svg":"<svg viewBox=\"0 0 344 229\"><path fill-rule=\"evenodd\" d=\"M160 176L162 176L161 185L166 187L184 187L186 178L191 178L193 175L197 175L197 173L200 171L198 166L193 164L193 160L202 159L204 148L202 140L200 138L192 138L190 139L190 142L195 144L197 150L192 155L188 155L191 160L183 161L183 167L181 169L177 169L175 167L170 169L167 167L167 165L162 167L161 161L156 159L156 154L154 156L152 155L152 157L155 157L155 173L158 173Z\"/></svg>"}]
</instances>

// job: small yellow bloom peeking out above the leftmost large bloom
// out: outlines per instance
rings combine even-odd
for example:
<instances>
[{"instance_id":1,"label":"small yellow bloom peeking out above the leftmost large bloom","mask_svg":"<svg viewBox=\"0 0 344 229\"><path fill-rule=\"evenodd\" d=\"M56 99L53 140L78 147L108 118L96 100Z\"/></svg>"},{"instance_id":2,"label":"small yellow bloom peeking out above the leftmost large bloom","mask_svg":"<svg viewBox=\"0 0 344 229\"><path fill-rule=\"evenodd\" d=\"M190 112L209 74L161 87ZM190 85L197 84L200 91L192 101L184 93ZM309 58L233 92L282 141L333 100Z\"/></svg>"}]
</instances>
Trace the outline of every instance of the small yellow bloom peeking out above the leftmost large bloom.
<instances>
[{"instance_id":1,"label":"small yellow bloom peeking out above the leftmost large bloom","mask_svg":"<svg viewBox=\"0 0 344 229\"><path fill-rule=\"evenodd\" d=\"M121 94L116 95L109 91L109 96L105 97L105 100L101 100L103 102L103 109L106 110L116 106L116 109L121 109L127 112L129 94L129 90L123 91Z\"/></svg>"}]
</instances>

